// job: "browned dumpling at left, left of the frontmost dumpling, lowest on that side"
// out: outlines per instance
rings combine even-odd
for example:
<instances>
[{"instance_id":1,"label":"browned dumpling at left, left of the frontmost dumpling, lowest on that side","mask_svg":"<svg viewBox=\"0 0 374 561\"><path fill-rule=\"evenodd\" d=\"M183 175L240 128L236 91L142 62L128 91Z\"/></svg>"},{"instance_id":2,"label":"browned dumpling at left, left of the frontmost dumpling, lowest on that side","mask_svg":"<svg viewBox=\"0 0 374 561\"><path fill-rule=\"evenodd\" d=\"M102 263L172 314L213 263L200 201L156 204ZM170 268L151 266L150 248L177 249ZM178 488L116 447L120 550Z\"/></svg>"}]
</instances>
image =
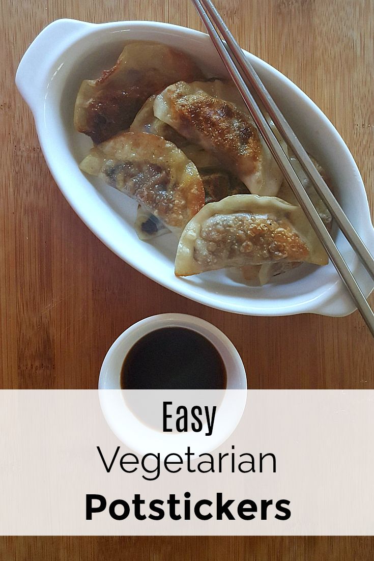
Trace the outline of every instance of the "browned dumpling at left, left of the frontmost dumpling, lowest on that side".
<instances>
[{"instance_id":1,"label":"browned dumpling at left, left of the frontmost dumpling, lowest on that side","mask_svg":"<svg viewBox=\"0 0 374 561\"><path fill-rule=\"evenodd\" d=\"M160 136L122 132L91 149L80 168L136 199L176 233L204 205L196 166Z\"/></svg>"}]
</instances>

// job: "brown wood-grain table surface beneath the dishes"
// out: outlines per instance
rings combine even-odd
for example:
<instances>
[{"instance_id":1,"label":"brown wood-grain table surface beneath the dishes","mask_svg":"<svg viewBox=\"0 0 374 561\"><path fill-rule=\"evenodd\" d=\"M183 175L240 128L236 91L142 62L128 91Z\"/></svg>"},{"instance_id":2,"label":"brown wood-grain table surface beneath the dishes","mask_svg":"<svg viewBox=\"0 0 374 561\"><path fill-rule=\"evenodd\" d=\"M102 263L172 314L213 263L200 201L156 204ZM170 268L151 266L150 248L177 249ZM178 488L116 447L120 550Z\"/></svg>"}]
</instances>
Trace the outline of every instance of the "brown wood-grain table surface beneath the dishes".
<instances>
[{"instance_id":1,"label":"brown wood-grain table surface beneath the dishes","mask_svg":"<svg viewBox=\"0 0 374 561\"><path fill-rule=\"evenodd\" d=\"M220 0L241 45L279 68L334 123L373 208L372 0ZM50 21L157 20L201 29L188 0L2 0L0 99L0 387L95 388L101 361L129 325L161 312L211 321L236 344L250 388L374 387L372 339L361 316L252 318L178 296L123 263L68 206L48 171L14 76ZM352 195L354 196L354 194ZM371 298L371 304L373 299ZM0 558L373 558L370 538L9 538Z\"/></svg>"}]
</instances>

